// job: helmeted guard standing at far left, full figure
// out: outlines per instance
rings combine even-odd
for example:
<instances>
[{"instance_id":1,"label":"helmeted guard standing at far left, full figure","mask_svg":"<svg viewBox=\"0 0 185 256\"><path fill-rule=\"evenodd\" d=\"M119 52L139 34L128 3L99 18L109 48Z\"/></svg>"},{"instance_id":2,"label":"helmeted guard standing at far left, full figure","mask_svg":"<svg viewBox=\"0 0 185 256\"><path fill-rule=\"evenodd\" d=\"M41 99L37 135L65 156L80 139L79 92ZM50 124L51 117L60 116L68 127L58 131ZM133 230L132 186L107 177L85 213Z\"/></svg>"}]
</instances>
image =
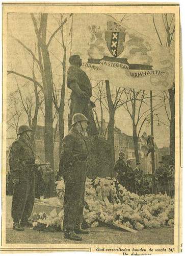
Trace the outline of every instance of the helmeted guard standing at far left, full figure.
<instances>
[{"instance_id":1,"label":"helmeted guard standing at far left, full figure","mask_svg":"<svg viewBox=\"0 0 185 256\"><path fill-rule=\"evenodd\" d=\"M35 200L35 156L30 144L32 129L21 125L17 135L19 138L12 143L9 165L14 183L12 198L13 229L23 231L30 226Z\"/></svg>"}]
</instances>

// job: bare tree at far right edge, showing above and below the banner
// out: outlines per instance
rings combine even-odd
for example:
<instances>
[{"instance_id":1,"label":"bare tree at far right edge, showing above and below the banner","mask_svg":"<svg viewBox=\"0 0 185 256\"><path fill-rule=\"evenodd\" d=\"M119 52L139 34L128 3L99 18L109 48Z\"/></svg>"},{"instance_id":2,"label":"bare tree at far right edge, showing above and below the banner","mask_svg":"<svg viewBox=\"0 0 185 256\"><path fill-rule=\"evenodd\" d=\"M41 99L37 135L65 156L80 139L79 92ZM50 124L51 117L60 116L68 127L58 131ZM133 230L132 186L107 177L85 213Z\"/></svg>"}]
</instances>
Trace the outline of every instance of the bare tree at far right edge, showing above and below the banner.
<instances>
[{"instance_id":1,"label":"bare tree at far right edge, showing above and below the banner","mask_svg":"<svg viewBox=\"0 0 185 256\"><path fill-rule=\"evenodd\" d=\"M162 23L164 26L164 30L166 33L166 38L164 42L156 26L154 14L152 14L153 25L161 46L166 46L166 47L169 47L170 49L172 42L174 41L174 35L175 35L175 14L163 13L161 14L161 16L162 16ZM172 81L172 88L168 90L168 94L169 95L167 99L169 101L170 112L171 112L170 115L167 115L170 122L170 156L171 156L171 163L174 164L174 161L175 161L175 83L174 81ZM164 107L166 110L166 105L164 105Z\"/></svg>"}]
</instances>

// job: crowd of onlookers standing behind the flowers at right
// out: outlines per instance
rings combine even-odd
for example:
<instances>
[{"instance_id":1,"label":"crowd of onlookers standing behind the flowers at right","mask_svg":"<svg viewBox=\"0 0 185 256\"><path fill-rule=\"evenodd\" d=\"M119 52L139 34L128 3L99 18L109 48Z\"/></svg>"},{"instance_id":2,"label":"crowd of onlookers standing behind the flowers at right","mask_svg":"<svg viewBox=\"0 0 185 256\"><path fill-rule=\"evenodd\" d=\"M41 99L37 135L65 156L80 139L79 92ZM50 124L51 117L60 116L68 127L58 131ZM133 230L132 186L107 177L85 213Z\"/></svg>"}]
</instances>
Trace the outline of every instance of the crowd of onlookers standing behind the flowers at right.
<instances>
[{"instance_id":1,"label":"crowd of onlookers standing behind the flowers at right","mask_svg":"<svg viewBox=\"0 0 185 256\"><path fill-rule=\"evenodd\" d=\"M114 171L117 174L119 183L131 193L138 195L150 194L152 192L152 183L154 193L162 193L173 197L174 196L174 166L169 168L164 167L164 162L158 162L158 168L155 169L153 178L152 175L144 175L141 169L141 163L136 163L136 168L131 167L131 160L125 161L125 154L119 153L119 159L114 165Z\"/></svg>"}]
</instances>

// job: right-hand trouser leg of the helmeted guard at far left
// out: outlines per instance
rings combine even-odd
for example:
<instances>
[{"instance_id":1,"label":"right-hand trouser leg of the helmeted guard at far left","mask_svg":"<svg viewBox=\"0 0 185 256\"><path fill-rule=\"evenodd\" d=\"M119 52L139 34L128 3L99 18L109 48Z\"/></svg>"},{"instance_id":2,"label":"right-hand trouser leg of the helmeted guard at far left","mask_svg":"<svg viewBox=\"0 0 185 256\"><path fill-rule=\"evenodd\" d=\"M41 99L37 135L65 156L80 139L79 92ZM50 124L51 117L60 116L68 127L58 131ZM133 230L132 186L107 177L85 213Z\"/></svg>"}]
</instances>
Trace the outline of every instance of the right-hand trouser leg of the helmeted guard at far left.
<instances>
[{"instance_id":1,"label":"right-hand trouser leg of the helmeted guard at far left","mask_svg":"<svg viewBox=\"0 0 185 256\"><path fill-rule=\"evenodd\" d=\"M29 194L27 198L27 202L25 203L24 211L22 214L22 221L28 221L32 214L32 210L34 207L34 201L35 201L35 178L32 180L29 180Z\"/></svg>"}]
</instances>

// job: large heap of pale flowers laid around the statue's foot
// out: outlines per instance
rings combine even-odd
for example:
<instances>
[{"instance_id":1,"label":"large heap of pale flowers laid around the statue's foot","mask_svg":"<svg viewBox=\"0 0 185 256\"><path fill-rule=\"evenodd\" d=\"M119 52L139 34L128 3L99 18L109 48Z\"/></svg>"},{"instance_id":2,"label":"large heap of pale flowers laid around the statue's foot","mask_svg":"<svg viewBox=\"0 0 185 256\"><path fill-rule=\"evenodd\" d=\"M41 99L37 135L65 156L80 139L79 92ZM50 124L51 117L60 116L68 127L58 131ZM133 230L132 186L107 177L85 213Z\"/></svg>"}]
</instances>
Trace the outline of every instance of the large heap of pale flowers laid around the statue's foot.
<instances>
[{"instance_id":1,"label":"large heap of pale flowers laid around the statue's foot","mask_svg":"<svg viewBox=\"0 0 185 256\"><path fill-rule=\"evenodd\" d=\"M57 182L57 195L64 197L64 181ZM60 215L60 216L59 216ZM33 218L34 226L62 228L63 212L53 210L49 216L42 214ZM39 219L38 219L39 218ZM37 223L37 224L36 224ZM166 194L138 196L130 193L115 178L87 178L83 226L97 227L121 224L141 230L174 225L174 199Z\"/></svg>"}]
</instances>

